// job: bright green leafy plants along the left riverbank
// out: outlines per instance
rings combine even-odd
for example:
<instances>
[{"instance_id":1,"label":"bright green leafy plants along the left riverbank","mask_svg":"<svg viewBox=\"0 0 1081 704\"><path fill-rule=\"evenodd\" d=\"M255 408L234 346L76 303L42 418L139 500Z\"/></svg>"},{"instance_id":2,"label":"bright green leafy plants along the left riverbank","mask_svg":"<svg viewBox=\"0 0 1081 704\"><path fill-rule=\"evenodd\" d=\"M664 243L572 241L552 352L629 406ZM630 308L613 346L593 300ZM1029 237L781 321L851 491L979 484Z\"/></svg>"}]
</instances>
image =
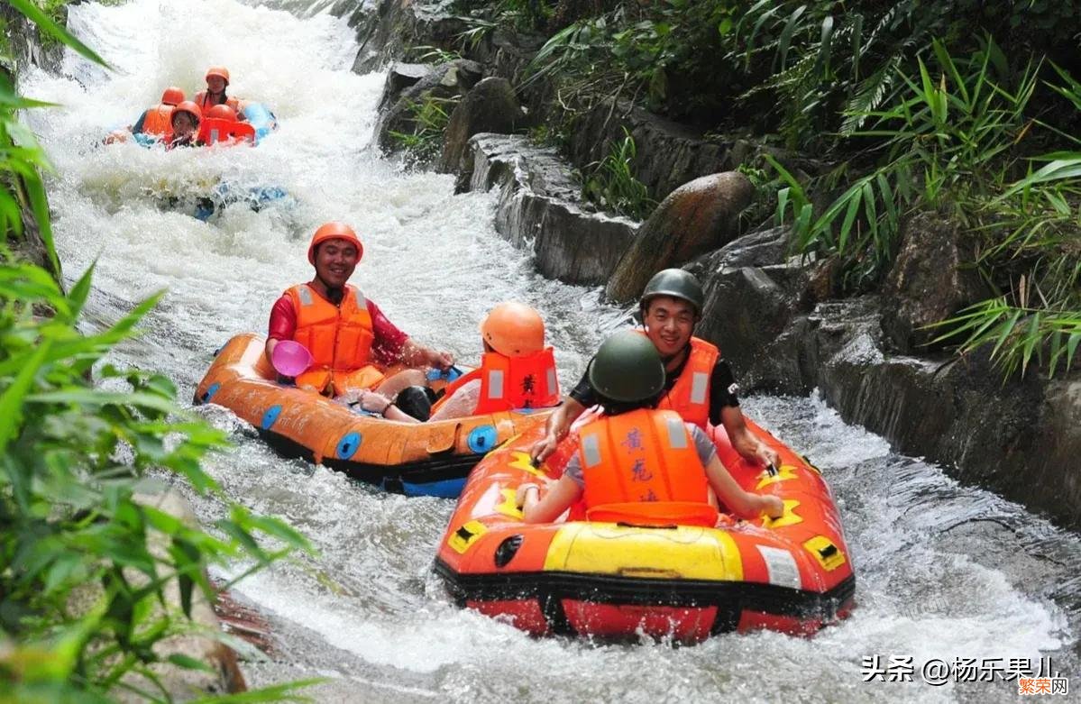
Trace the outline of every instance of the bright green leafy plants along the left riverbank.
<instances>
[{"instance_id":1,"label":"bright green leafy plants along the left riverbank","mask_svg":"<svg viewBox=\"0 0 1081 704\"><path fill-rule=\"evenodd\" d=\"M12 5L103 63L38 5ZM178 634L225 638L191 621L197 594L215 598L206 568L239 562L246 574L311 547L240 505L206 532L137 499L174 477L219 494L201 462L226 437L182 411L165 376L103 361L137 334L160 293L101 332L80 331L93 266L62 290L39 175L50 167L18 120L23 109L48 104L19 96L0 74L0 699L106 702L123 691L169 701L156 667L211 665L156 647ZM13 253L28 237L40 237L52 270ZM292 698L296 686L242 701Z\"/></svg>"}]
</instances>

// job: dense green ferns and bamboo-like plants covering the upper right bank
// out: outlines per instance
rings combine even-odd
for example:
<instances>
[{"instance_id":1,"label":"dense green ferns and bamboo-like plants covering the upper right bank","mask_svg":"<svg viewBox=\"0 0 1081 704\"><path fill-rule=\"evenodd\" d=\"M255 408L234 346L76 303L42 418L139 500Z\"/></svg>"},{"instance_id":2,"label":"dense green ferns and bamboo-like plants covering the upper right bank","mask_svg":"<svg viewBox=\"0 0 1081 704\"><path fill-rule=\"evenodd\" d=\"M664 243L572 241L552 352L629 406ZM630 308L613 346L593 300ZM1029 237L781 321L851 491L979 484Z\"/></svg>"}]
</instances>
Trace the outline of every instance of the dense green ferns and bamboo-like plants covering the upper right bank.
<instances>
[{"instance_id":1,"label":"dense green ferns and bamboo-like plants covering the upper right bank","mask_svg":"<svg viewBox=\"0 0 1081 704\"><path fill-rule=\"evenodd\" d=\"M943 322L961 353L1054 373L1081 343L1081 2L458 0L468 53L496 29L547 41L517 77L558 99L548 135L602 97L777 155L796 253L880 284L915 213L957 222L982 301ZM788 155L790 158L784 158ZM632 167L631 161L624 163ZM803 165L799 171L793 163ZM787 164L787 165L786 165ZM632 174L631 174L632 175Z\"/></svg>"}]
</instances>

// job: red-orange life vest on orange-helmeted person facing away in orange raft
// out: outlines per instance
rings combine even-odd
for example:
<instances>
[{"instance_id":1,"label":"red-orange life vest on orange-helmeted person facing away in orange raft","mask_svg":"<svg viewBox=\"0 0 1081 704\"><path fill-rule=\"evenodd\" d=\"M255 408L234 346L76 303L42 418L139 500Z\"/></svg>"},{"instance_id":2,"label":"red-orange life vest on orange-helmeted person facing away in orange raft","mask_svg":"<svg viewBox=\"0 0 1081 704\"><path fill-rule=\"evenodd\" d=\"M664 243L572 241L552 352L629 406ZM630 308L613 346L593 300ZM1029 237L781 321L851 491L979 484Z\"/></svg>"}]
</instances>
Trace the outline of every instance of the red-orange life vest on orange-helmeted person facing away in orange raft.
<instances>
[{"instance_id":1,"label":"red-orange life vest on orange-helmeted person facing away in orange raft","mask_svg":"<svg viewBox=\"0 0 1081 704\"><path fill-rule=\"evenodd\" d=\"M552 348L546 347L529 357L484 353L480 367L454 380L446 387L443 398L432 407L432 412L439 410L454 391L478 378L480 399L473 413L498 413L559 403L556 358L552 356Z\"/></svg>"}]
</instances>

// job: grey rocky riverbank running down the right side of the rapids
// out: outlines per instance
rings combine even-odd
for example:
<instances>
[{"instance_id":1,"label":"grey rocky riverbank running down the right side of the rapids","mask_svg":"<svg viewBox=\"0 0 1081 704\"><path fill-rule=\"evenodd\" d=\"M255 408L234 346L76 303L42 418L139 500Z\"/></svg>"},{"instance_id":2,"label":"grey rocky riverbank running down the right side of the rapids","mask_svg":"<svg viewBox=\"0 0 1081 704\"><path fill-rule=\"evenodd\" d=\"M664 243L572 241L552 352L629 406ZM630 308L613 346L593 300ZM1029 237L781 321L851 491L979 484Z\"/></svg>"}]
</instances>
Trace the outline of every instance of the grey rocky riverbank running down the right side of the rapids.
<instances>
[{"instance_id":1,"label":"grey rocky riverbank running down the right side of the rapids","mask_svg":"<svg viewBox=\"0 0 1081 704\"><path fill-rule=\"evenodd\" d=\"M956 228L933 214L910 218L881 290L836 297L830 264L792 260L786 229L748 233L738 220L753 204L755 189L737 167L769 154L790 170L813 173L813 160L746 140L707 138L614 99L584 107L563 150L537 146L525 132L552 125L556 97L543 80L523 90L520 79L542 37L501 27L465 59L395 63L411 47L461 49L455 38L466 24L448 14L449 5L337 5L362 40L355 70L389 64L376 135L383 148L397 148L388 125L408 121L410 106L430 95L445 99L454 129L439 165L458 174L459 189L498 189L497 231L532 249L544 276L604 285L609 297L626 301L653 271L684 266L706 284L698 334L721 345L745 391L818 388L846 421L899 451L938 462L958 479L1063 526L1081 527L1075 477L1081 373L1049 378L1029 371L1003 383L987 351L961 358L927 344L933 334L924 326L972 302ZM481 87L483 99L476 92ZM637 146L635 176L662 200L643 223L595 212L572 176L626 134Z\"/></svg>"}]
</instances>

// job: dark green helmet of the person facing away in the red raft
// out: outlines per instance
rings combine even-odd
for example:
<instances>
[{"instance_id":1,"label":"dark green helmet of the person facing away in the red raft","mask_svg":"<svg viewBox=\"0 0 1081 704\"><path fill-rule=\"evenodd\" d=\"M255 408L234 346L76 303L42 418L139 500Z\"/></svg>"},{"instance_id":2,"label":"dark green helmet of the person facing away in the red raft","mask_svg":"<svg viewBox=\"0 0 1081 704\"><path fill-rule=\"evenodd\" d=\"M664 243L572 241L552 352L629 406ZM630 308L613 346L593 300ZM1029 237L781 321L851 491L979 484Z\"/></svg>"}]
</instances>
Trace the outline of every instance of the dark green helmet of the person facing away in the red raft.
<instances>
[{"instance_id":1,"label":"dark green helmet of the person facing away in the red raft","mask_svg":"<svg viewBox=\"0 0 1081 704\"><path fill-rule=\"evenodd\" d=\"M589 364L589 385L613 401L650 400L665 387L665 366L649 337L624 330L597 350Z\"/></svg>"}]
</instances>

